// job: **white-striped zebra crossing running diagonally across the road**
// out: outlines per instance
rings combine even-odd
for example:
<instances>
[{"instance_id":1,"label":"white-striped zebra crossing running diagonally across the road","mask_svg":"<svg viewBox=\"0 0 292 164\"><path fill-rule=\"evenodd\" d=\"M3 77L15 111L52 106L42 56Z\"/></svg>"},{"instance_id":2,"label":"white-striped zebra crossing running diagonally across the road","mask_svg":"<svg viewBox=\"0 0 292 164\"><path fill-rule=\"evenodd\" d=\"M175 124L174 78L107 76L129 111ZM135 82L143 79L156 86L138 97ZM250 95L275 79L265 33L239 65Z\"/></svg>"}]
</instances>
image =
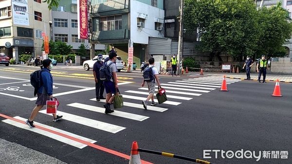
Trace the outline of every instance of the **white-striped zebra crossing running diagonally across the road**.
<instances>
[{"instance_id":1,"label":"white-striped zebra crossing running diagonally across the road","mask_svg":"<svg viewBox=\"0 0 292 164\"><path fill-rule=\"evenodd\" d=\"M227 84L233 84L235 82L239 82L241 80L237 79L228 79L226 80ZM146 95L148 95L148 88L147 87L140 87L137 88L136 90L126 90L123 92L123 100L124 100L124 108L117 109L113 113L108 114L108 116L113 116L113 117L118 117L118 118L123 118L123 119L128 119L131 121L139 121L143 122L146 120L149 120L150 115L153 114L153 112L159 112L163 113L166 112L167 110L171 110L173 108L177 108L182 103L187 103L190 100L195 99L198 96L201 96L202 94L208 94L210 92L214 92L216 90L219 90L221 87L222 83L222 78L219 77L202 77L202 78L190 78L190 79L183 79L183 80L176 80L172 82L164 82L161 83L161 86L166 90L166 95L168 100L165 101L163 104L156 105L156 106L148 106L147 110L144 109L141 101L146 99ZM158 86L156 86L158 87ZM158 91L156 89L155 91ZM154 96L156 96L154 94ZM95 101L95 105L89 105L89 104L83 104L79 102L73 102L66 104L66 107L68 108L76 108L80 110L87 111L90 113L90 115L104 115L104 107L103 104L105 103L105 99L101 99L100 101L96 101L96 98L91 98L89 99L91 102ZM154 100L157 102L157 99L154 98ZM92 103L91 103L92 104ZM133 112L133 109L134 112ZM128 111L132 111L131 113ZM46 110L39 111L41 114L45 115L50 115L51 114L46 114ZM91 119L87 118L82 115L74 115L69 112L64 112L62 109L58 110L57 112L59 115L63 115L63 120L70 121L76 124L81 124L86 127L93 128L97 131L106 131L109 133L117 133L120 131L123 131L127 129L126 126L121 126L121 125L115 125L110 123L109 121L103 122L96 119ZM143 114L141 114L143 113ZM19 116L16 116L15 118L25 121L25 118L21 118ZM76 141L71 141L68 138L64 138L61 136L58 136L54 133L51 133L49 131L43 131L39 130L37 128L35 129L30 129L27 125L21 124L18 122L15 122L13 120L2 120L5 123L11 124L13 126L26 129L29 131L33 131L39 134L42 134L44 136L48 136L50 138L53 138L55 140L58 140L60 142L72 145L76 148L85 148L86 145L82 143L78 143ZM70 136L74 136L76 138L79 138L81 140L87 141L94 143L96 141L67 132L63 131L54 127L50 127L44 124L40 124L35 122L36 125L43 126L45 128L51 129L52 131L58 131L61 133L65 133ZM125 124L124 124L125 125Z\"/></svg>"}]
</instances>

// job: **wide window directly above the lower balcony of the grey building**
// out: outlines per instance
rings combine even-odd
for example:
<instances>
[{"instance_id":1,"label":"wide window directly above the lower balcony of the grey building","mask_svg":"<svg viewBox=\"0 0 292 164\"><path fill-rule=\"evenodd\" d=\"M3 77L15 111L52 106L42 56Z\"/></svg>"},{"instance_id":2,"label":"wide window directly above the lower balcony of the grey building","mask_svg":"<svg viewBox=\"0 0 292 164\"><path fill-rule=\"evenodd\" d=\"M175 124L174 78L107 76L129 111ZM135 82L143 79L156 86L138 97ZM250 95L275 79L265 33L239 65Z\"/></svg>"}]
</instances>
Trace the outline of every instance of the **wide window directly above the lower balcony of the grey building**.
<instances>
[{"instance_id":1,"label":"wide window directly above the lower balcony of the grey building","mask_svg":"<svg viewBox=\"0 0 292 164\"><path fill-rule=\"evenodd\" d=\"M111 31L122 29L122 15L105 16L99 18L99 31Z\"/></svg>"}]
</instances>

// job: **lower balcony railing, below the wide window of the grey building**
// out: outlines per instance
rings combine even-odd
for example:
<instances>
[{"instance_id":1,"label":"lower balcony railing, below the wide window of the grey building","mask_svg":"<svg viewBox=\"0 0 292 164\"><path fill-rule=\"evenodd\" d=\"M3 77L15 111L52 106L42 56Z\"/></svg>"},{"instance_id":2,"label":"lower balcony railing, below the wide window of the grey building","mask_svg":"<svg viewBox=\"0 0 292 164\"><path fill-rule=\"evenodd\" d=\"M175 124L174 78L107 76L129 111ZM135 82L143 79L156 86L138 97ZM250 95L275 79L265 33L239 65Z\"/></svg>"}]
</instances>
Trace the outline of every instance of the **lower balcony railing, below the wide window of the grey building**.
<instances>
[{"instance_id":1,"label":"lower balcony railing, below the wide window of the grey building","mask_svg":"<svg viewBox=\"0 0 292 164\"><path fill-rule=\"evenodd\" d=\"M92 32L92 40L116 40L116 39L128 39L129 30L111 30L111 31L98 31Z\"/></svg>"}]
</instances>

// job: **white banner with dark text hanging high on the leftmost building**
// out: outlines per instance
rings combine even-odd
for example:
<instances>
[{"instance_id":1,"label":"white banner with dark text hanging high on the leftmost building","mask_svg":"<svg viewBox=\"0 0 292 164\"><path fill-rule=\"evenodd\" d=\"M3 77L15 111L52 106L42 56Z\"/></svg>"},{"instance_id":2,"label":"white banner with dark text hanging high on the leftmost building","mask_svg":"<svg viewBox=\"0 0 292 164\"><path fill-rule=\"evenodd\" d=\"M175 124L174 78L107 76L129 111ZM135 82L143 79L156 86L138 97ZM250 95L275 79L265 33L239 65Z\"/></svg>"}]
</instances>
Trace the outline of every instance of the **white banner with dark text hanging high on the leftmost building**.
<instances>
[{"instance_id":1,"label":"white banner with dark text hanging high on the leftmost building","mask_svg":"<svg viewBox=\"0 0 292 164\"><path fill-rule=\"evenodd\" d=\"M27 0L12 0L13 24L29 26L29 17L26 12L28 12Z\"/></svg>"}]
</instances>

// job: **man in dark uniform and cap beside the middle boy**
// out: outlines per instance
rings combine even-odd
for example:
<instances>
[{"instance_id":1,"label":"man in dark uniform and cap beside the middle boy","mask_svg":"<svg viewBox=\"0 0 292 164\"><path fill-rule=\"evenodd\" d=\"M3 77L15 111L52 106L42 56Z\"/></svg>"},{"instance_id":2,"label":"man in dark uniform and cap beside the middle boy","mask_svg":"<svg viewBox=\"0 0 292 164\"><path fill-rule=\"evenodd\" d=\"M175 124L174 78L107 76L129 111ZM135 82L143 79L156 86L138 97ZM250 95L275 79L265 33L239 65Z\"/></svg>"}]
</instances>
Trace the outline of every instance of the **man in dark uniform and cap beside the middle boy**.
<instances>
[{"instance_id":1,"label":"man in dark uniform and cap beside the middle boy","mask_svg":"<svg viewBox=\"0 0 292 164\"><path fill-rule=\"evenodd\" d=\"M103 93L105 91L105 86L99 77L99 69L104 66L104 62L102 61L102 54L97 55L97 62L93 65L93 76L95 81L95 96L96 101L100 101L100 99L106 99L103 97Z\"/></svg>"}]
</instances>

